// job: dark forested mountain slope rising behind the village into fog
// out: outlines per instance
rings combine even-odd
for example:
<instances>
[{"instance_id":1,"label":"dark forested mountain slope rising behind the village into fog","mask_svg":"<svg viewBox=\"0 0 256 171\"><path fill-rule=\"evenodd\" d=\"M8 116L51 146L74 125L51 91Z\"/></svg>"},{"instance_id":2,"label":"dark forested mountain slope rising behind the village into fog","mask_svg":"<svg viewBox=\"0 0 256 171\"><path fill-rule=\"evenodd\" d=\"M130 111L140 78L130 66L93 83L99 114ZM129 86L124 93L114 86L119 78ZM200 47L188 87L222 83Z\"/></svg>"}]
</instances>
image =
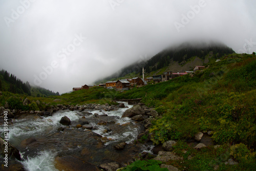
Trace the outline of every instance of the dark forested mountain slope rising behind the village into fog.
<instances>
[{"instance_id":1,"label":"dark forested mountain slope rising behind the village into fog","mask_svg":"<svg viewBox=\"0 0 256 171\"><path fill-rule=\"evenodd\" d=\"M143 67L146 77L161 74L164 71L189 71L194 66L204 65L210 60L216 60L231 53L234 53L231 48L219 42L185 42L176 47L166 48L147 61L135 62L133 65L97 82L125 78L129 74L140 76Z\"/></svg>"}]
</instances>

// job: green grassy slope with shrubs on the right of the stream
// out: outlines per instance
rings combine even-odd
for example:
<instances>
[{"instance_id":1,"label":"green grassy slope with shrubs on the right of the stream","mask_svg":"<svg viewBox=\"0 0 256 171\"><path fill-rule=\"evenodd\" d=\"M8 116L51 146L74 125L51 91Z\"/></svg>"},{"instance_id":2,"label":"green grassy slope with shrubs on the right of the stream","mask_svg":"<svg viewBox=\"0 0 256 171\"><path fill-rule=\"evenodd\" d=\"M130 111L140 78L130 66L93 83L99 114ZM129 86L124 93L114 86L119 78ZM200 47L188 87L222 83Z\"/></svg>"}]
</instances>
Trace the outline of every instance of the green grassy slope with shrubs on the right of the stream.
<instances>
[{"instance_id":1,"label":"green grassy slope with shrubs on the right of the stream","mask_svg":"<svg viewBox=\"0 0 256 171\"><path fill-rule=\"evenodd\" d=\"M162 115L150 128L155 144L177 140L176 153L184 162L169 161L188 170L255 169L256 146L256 57L231 54L209 68L173 80L133 89L116 98L143 97L146 105L154 106ZM207 147L198 152L185 140L199 131L212 131L212 139L220 148ZM230 147L226 144L237 144ZM242 143L242 144L240 144ZM181 151L186 150L184 154ZM188 160L188 156L195 156ZM224 157L223 157L224 156ZM246 156L246 157L245 157ZM225 165L229 158L240 162Z\"/></svg>"}]
</instances>

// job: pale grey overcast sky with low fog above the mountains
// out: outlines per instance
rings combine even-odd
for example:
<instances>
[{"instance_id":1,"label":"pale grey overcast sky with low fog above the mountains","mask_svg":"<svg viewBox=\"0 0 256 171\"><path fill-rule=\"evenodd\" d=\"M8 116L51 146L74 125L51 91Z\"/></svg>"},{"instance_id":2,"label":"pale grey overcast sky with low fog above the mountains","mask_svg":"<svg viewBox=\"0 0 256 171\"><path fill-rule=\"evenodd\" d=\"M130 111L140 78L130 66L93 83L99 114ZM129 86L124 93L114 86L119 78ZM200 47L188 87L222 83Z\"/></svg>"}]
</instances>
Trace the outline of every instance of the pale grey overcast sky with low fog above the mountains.
<instances>
[{"instance_id":1,"label":"pale grey overcast sky with low fog above the mountains","mask_svg":"<svg viewBox=\"0 0 256 171\"><path fill-rule=\"evenodd\" d=\"M191 40L256 51L253 0L1 0L0 69L54 92Z\"/></svg>"}]
</instances>

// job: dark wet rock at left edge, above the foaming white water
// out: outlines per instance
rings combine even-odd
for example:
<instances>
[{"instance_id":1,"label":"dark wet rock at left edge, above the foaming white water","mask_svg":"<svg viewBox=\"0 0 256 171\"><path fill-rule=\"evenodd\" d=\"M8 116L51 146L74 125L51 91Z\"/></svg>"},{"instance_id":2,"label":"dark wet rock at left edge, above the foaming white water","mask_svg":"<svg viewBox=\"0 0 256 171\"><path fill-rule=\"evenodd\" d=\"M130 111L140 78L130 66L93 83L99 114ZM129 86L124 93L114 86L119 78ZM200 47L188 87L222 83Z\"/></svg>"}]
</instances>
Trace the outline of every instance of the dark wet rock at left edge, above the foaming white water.
<instances>
[{"instance_id":1,"label":"dark wet rock at left edge, above the foaming white water","mask_svg":"<svg viewBox=\"0 0 256 171\"><path fill-rule=\"evenodd\" d=\"M5 141L4 138L0 137L0 155L3 158L6 155L6 153L5 153L6 147L8 147L8 152L7 152L8 159L15 158L17 160L22 160L22 158L20 158L18 149L16 147L14 147L12 144L10 144L9 142Z\"/></svg>"}]
</instances>

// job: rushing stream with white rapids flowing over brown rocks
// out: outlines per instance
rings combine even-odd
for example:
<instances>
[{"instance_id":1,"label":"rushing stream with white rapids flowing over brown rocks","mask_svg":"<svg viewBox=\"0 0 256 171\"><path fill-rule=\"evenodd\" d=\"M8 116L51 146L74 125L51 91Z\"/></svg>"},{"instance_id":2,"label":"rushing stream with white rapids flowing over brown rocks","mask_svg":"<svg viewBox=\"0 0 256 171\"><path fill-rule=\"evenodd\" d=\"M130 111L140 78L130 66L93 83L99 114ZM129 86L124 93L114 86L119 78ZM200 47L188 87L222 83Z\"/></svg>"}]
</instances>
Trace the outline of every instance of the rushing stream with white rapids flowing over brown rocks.
<instances>
[{"instance_id":1,"label":"rushing stream with white rapids flowing over brown rocks","mask_svg":"<svg viewBox=\"0 0 256 171\"><path fill-rule=\"evenodd\" d=\"M132 107L127 103L125 106ZM110 112L89 111L99 116L69 110L60 110L49 117L27 115L13 119L13 124L8 127L9 142L19 149L22 164L29 171L57 170L54 166L55 158L65 156L75 156L96 166L113 161L125 165L135 153L144 150L132 144L143 126L130 118L121 118L128 108ZM63 116L70 118L71 125L59 123ZM93 126L92 130L76 128L82 116ZM107 124L99 125L99 121ZM1 125L1 135L3 132ZM120 142L126 142L127 145L122 151L117 151L113 146Z\"/></svg>"}]
</instances>

